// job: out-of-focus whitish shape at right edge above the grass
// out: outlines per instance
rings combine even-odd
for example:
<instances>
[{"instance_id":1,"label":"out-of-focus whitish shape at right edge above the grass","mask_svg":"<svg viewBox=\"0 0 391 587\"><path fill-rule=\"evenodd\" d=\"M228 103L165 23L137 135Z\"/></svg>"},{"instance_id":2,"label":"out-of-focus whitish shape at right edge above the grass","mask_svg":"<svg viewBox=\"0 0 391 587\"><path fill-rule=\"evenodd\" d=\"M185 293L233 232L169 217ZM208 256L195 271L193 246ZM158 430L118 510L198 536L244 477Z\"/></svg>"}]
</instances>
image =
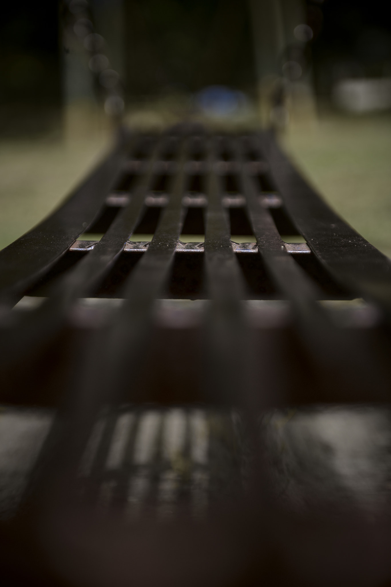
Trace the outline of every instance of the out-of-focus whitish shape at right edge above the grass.
<instances>
[{"instance_id":1,"label":"out-of-focus whitish shape at right edge above the grass","mask_svg":"<svg viewBox=\"0 0 391 587\"><path fill-rule=\"evenodd\" d=\"M344 79L334 86L333 102L339 108L363 113L391 108L391 77Z\"/></svg>"}]
</instances>

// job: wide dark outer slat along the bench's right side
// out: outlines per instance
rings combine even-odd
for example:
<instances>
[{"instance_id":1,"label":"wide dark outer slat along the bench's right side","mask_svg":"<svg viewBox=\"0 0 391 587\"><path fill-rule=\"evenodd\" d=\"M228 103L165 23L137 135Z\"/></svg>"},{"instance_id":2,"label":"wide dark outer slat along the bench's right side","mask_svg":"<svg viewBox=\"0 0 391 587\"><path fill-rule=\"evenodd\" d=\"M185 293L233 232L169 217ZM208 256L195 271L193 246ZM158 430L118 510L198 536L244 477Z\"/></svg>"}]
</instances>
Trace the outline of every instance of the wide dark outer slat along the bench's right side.
<instances>
[{"instance_id":1,"label":"wide dark outer slat along the bench's right side","mask_svg":"<svg viewBox=\"0 0 391 587\"><path fill-rule=\"evenodd\" d=\"M319 261L358 295L391 312L391 262L342 220L300 176L271 133L259 137L285 208Z\"/></svg>"}]
</instances>

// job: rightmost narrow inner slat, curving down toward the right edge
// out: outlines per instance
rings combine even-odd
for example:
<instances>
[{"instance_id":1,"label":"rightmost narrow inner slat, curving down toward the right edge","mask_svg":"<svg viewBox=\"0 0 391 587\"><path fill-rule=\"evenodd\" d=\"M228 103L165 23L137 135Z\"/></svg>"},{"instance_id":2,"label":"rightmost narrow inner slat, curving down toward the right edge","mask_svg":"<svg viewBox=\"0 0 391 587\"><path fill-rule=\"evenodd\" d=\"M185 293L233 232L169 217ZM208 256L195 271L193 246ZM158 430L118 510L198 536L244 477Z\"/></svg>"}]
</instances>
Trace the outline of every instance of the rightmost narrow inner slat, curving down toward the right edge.
<instances>
[{"instance_id":1,"label":"rightmost narrow inner slat, curving down toward the right edge","mask_svg":"<svg viewBox=\"0 0 391 587\"><path fill-rule=\"evenodd\" d=\"M327 378L319 380L314 399L319 401L323 397L326 400L339 395L352 400L355 397L386 400L390 378L386 374L380 345L373 349L372 345L358 341L351 333L341 332L317 303L320 298L317 287L288 255L270 212L257 201L254 180L249 176L238 150L237 161L242 163L240 184L246 196L259 253L278 288L293 303L298 329L313 360L322 372L328 374ZM374 384L376 394L373 393Z\"/></svg>"}]
</instances>

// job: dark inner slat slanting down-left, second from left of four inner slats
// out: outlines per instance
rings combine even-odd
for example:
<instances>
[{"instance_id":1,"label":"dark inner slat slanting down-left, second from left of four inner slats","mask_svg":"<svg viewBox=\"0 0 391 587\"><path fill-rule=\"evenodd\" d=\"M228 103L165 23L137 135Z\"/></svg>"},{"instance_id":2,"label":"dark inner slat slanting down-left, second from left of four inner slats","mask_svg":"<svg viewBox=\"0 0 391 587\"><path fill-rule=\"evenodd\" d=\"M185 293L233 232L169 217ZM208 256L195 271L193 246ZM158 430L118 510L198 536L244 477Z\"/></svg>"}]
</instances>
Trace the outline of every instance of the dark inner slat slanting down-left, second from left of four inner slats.
<instances>
[{"instance_id":1,"label":"dark inner slat slanting down-left, second from left of four inner slats","mask_svg":"<svg viewBox=\"0 0 391 587\"><path fill-rule=\"evenodd\" d=\"M137 378L149 340L154 300L164 286L181 232L185 157L186 152L182 146L178 171L172 178L169 190L169 204L159 222L152 245L125 284L124 296L127 302L117 312L113 325L103 331L98 330L89 347L80 349L83 359L76 364L76 371L69 384L68 410L72 414L68 416L69 426L64 428L59 421L59 431L53 432L60 436L55 444L55 453L62 455L64 459L68 455L66 461L70 468L67 474L70 478L101 406L105 403L115 405L121 401L130 378ZM133 393L137 397L137 390L133 390ZM50 447L54 444L52 438L49 437L46 444L50 452ZM51 462L53 463L53 457ZM38 470L39 468L40 464ZM56 483L56 463L52 464L52 471L46 471L44 467L42 474L44 478L50 475L52 483ZM42 481L38 480L36 483L42 484ZM67 498L61 488L57 492L60 500Z\"/></svg>"}]
</instances>

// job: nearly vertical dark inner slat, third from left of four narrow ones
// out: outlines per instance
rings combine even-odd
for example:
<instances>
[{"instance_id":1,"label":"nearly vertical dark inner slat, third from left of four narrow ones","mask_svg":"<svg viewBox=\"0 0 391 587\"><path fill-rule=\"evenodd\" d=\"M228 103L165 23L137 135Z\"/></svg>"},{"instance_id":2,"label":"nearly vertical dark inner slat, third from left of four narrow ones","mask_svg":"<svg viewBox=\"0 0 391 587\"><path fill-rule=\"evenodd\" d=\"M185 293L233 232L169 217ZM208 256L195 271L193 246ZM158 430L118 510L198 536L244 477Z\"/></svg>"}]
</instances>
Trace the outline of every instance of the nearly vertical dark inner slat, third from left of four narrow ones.
<instances>
[{"instance_id":1,"label":"nearly vertical dark inner slat, third from left of four narrow ones","mask_svg":"<svg viewBox=\"0 0 391 587\"><path fill-rule=\"evenodd\" d=\"M208 144L209 143L209 144ZM206 397L220 402L241 401L248 389L246 350L248 336L240 301L246 297L243 277L230 239L227 210L217 170L217 141L207 141L209 172L205 177L208 196L205 229L205 272L212 300L206 315ZM239 352L237 349L240 349Z\"/></svg>"}]
</instances>

